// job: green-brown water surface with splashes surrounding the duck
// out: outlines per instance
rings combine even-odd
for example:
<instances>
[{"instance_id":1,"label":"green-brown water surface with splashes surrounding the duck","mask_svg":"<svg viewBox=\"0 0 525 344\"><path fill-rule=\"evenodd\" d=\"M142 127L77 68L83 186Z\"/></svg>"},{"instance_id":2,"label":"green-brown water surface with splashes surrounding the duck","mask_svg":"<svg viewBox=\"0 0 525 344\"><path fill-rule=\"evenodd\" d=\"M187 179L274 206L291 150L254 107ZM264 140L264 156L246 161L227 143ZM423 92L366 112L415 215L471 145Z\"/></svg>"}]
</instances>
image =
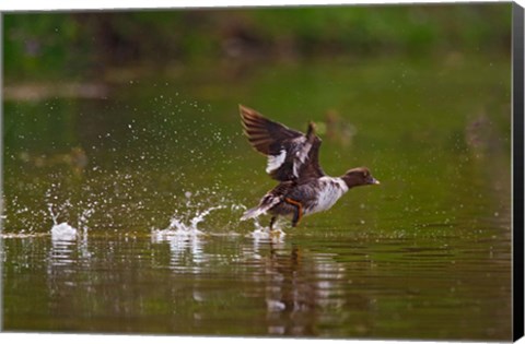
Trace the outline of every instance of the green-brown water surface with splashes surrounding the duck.
<instances>
[{"instance_id":1,"label":"green-brown water surface with splashes surrounding the duck","mask_svg":"<svg viewBox=\"0 0 525 344\"><path fill-rule=\"evenodd\" d=\"M3 328L509 340L510 60L460 61L131 70L103 98L8 100ZM315 120L328 174L382 185L277 235L240 221L275 183L238 103Z\"/></svg>"}]
</instances>

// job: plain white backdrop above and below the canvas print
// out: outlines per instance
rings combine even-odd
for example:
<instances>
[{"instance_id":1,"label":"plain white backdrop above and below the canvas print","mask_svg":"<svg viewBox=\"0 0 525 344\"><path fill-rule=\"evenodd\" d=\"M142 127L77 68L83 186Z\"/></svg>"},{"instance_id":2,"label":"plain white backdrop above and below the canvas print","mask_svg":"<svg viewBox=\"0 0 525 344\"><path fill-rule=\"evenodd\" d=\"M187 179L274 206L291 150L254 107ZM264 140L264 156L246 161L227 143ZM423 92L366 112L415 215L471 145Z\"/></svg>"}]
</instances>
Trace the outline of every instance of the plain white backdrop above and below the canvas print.
<instances>
[{"instance_id":1,"label":"plain white backdrop above and below the canvas print","mask_svg":"<svg viewBox=\"0 0 525 344\"><path fill-rule=\"evenodd\" d=\"M353 0L353 1L322 1L322 0L1 0L0 12L11 11L49 11L49 10L125 10L125 9L179 9L179 8L225 8L225 7L283 7L283 5L324 5L324 4L395 4L395 3L457 3L457 2L510 2L502 0L476 0L476 1L455 1L455 0ZM514 0L525 8L525 0ZM1 24L1 22L0 22ZM0 28L1 33L1 28ZM0 325L1 329L1 325ZM0 330L1 331L1 330ZM196 337L196 336L174 336L174 335L103 335L103 334L49 334L49 333L0 333L1 343L52 343L60 344L135 344L135 343L170 343L173 344L306 344L312 340L296 339L250 339L250 337ZM335 343L366 343L366 344L385 344L385 343L464 343L464 342L418 342L418 341L375 341L375 340L315 340L315 344L335 344ZM525 344L525 337L515 342Z\"/></svg>"}]
</instances>

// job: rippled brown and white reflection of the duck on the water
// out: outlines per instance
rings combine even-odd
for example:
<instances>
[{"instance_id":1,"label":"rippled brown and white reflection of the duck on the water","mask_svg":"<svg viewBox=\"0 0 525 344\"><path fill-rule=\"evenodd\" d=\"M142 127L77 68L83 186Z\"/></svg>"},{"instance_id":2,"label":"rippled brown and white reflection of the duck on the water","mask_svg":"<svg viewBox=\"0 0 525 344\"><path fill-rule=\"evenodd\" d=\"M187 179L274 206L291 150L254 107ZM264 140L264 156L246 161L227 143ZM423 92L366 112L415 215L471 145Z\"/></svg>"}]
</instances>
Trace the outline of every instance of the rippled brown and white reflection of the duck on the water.
<instances>
[{"instance_id":1,"label":"rippled brown and white reflection of the duck on the water","mask_svg":"<svg viewBox=\"0 0 525 344\"><path fill-rule=\"evenodd\" d=\"M332 254L270 244L265 274L268 334L318 335L319 323L340 322L352 303L346 269Z\"/></svg>"}]
</instances>

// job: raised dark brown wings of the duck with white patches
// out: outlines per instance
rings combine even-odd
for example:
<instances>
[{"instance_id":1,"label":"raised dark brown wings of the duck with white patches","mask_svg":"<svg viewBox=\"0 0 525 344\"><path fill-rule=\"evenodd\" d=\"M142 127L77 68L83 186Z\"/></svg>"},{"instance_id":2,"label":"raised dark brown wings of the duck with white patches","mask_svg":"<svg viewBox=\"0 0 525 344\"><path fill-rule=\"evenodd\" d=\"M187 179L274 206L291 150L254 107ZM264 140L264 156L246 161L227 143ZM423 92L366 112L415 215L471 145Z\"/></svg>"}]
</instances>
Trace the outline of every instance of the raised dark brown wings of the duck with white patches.
<instances>
[{"instance_id":1,"label":"raised dark brown wings of the duck with white patches","mask_svg":"<svg viewBox=\"0 0 525 344\"><path fill-rule=\"evenodd\" d=\"M269 120L259 112L240 105L244 133L252 146L268 156L266 171L279 181L302 181L319 178L320 139L310 123L306 134Z\"/></svg>"}]
</instances>

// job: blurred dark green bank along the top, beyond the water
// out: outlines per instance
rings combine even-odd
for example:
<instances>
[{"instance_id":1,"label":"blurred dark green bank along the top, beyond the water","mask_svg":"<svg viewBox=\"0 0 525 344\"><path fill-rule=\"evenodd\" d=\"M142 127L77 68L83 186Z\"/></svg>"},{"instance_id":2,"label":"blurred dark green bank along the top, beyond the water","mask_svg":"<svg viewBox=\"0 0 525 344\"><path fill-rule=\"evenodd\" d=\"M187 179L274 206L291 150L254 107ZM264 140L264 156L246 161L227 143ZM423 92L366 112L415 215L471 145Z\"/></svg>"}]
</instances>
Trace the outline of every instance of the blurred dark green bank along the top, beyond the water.
<instances>
[{"instance_id":1,"label":"blurred dark green bank along the top, beyond the water","mask_svg":"<svg viewBox=\"0 0 525 344\"><path fill-rule=\"evenodd\" d=\"M7 83L118 66L510 52L511 4L8 13Z\"/></svg>"}]
</instances>

